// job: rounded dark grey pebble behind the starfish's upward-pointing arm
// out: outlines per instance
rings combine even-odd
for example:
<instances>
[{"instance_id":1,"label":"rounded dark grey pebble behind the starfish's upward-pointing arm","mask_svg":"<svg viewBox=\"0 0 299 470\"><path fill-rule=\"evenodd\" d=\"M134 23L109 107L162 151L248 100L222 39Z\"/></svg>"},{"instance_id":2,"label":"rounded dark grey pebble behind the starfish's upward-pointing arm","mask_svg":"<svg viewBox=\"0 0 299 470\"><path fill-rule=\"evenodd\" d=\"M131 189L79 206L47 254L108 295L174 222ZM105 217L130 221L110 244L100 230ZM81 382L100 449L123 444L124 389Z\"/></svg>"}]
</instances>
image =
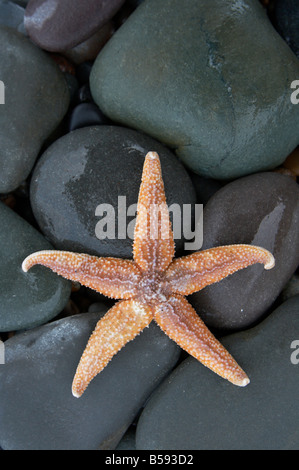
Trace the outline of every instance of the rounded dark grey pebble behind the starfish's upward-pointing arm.
<instances>
[{"instance_id":1,"label":"rounded dark grey pebble behind the starfish's upward-pointing arm","mask_svg":"<svg viewBox=\"0 0 299 470\"><path fill-rule=\"evenodd\" d=\"M144 158L151 150L161 157L167 203L194 204L194 188L176 156L136 131L86 127L47 149L32 175L31 204L42 232L56 248L132 257L132 205L137 204ZM179 250L183 240L177 236Z\"/></svg>"}]
</instances>

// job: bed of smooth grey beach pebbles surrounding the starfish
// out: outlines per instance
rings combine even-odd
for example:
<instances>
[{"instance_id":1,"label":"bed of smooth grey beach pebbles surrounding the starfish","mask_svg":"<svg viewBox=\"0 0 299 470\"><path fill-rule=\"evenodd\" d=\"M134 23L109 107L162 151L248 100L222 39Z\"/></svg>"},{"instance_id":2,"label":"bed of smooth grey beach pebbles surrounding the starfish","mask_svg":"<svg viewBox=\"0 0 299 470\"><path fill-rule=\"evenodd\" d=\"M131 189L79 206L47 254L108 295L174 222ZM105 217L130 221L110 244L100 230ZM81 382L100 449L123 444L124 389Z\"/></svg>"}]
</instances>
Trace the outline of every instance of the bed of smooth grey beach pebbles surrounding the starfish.
<instances>
[{"instance_id":1,"label":"bed of smooth grey beach pebbles surrounding the starfish","mask_svg":"<svg viewBox=\"0 0 299 470\"><path fill-rule=\"evenodd\" d=\"M0 0L1 449L299 450L298 31L294 0ZM76 366L114 301L22 261L131 258L121 222L149 151L202 249L275 257L188 297L250 384L152 323L77 399Z\"/></svg>"}]
</instances>

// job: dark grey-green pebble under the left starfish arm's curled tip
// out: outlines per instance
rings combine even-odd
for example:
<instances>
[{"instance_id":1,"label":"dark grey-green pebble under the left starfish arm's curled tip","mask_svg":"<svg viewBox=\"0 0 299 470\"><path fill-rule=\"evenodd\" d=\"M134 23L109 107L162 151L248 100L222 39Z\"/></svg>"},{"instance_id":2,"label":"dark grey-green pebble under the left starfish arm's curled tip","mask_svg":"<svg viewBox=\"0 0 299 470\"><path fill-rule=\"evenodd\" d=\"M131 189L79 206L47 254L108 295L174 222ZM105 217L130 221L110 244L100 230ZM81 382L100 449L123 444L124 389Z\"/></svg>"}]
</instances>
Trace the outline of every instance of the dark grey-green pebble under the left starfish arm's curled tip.
<instances>
[{"instance_id":1,"label":"dark grey-green pebble under the left starfish arm's curled tip","mask_svg":"<svg viewBox=\"0 0 299 470\"><path fill-rule=\"evenodd\" d=\"M40 266L28 273L22 271L26 256L52 246L3 203L0 227L0 331L46 323L67 304L70 283Z\"/></svg>"}]
</instances>

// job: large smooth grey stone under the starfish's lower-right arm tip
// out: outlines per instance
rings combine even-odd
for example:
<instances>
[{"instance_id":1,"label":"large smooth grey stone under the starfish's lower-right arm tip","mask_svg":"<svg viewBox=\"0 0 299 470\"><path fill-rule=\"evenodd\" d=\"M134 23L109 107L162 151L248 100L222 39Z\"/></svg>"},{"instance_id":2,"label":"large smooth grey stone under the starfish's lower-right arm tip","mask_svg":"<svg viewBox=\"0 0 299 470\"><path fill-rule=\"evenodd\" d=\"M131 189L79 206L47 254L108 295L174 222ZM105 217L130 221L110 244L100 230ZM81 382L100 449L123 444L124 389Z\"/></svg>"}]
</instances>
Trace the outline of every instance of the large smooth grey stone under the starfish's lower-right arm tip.
<instances>
[{"instance_id":1,"label":"large smooth grey stone under the starfish's lower-right arm tip","mask_svg":"<svg viewBox=\"0 0 299 470\"><path fill-rule=\"evenodd\" d=\"M296 296L255 328L221 340L248 373L245 388L186 359L146 405L136 448L299 450L298 310Z\"/></svg>"}]
</instances>

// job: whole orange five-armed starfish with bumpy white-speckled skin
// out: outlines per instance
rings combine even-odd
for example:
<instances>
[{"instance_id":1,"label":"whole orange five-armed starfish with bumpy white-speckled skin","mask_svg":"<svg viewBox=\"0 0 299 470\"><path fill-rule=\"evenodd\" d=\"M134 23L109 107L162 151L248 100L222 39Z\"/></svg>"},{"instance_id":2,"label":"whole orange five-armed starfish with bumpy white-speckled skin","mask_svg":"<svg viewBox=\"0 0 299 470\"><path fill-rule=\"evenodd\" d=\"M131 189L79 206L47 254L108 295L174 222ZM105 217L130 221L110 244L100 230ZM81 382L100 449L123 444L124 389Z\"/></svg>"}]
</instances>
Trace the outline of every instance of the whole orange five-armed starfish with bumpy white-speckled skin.
<instances>
[{"instance_id":1,"label":"whole orange five-armed starfish with bumpy white-speckled skin","mask_svg":"<svg viewBox=\"0 0 299 470\"><path fill-rule=\"evenodd\" d=\"M265 269L274 258L264 248L228 245L174 258L174 240L158 155L146 155L140 186L133 260L98 258L66 251L28 256L24 271L41 264L117 302L98 322L79 362L72 385L80 397L112 357L152 320L205 366L244 387L249 378L212 335L184 296L219 282L255 263Z\"/></svg>"}]
</instances>

